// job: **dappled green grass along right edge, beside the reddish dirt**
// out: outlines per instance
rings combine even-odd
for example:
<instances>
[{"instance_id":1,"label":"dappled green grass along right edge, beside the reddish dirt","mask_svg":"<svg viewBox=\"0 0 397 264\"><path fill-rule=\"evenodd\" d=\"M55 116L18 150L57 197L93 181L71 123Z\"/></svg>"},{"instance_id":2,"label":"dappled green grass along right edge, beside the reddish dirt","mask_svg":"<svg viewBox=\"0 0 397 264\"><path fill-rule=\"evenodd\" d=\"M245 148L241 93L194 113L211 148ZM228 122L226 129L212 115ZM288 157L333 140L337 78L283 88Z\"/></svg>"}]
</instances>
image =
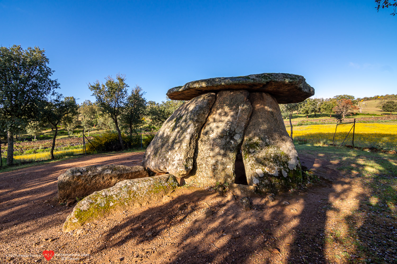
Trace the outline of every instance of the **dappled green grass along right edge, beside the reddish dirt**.
<instances>
[{"instance_id":1,"label":"dappled green grass along right edge, beside the reddish dirt","mask_svg":"<svg viewBox=\"0 0 397 264\"><path fill-rule=\"evenodd\" d=\"M350 182L352 188L361 186L364 191L358 195L362 190L355 190L357 207L339 211L343 218L332 219L334 224L345 223L347 229L343 231L347 233L343 235L338 228L329 230L324 237L329 256L341 258L341 263L397 263L392 256L397 254L397 237L393 233L397 226L397 156L310 144L296 145L296 149L298 153L310 153L323 162L329 161L337 174L345 177L343 184ZM335 182L334 186L338 184ZM323 208L337 211L330 205ZM333 251L334 247L338 251Z\"/></svg>"}]
</instances>

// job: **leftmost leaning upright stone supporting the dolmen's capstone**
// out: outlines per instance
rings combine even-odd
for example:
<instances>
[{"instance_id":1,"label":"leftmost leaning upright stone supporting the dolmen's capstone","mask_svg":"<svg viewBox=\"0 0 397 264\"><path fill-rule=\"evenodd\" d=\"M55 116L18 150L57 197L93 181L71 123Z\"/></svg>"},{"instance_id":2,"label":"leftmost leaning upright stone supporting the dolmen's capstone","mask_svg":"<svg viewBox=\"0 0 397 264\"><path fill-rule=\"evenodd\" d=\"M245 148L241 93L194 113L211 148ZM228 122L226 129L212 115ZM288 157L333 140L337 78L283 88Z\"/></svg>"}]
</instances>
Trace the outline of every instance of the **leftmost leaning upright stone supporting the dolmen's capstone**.
<instances>
[{"instance_id":1,"label":"leftmost leaning upright stone supporting the dolmen's capstone","mask_svg":"<svg viewBox=\"0 0 397 264\"><path fill-rule=\"evenodd\" d=\"M215 99L215 93L206 93L175 110L146 149L143 167L176 177L187 175L193 167L198 133Z\"/></svg>"}]
</instances>

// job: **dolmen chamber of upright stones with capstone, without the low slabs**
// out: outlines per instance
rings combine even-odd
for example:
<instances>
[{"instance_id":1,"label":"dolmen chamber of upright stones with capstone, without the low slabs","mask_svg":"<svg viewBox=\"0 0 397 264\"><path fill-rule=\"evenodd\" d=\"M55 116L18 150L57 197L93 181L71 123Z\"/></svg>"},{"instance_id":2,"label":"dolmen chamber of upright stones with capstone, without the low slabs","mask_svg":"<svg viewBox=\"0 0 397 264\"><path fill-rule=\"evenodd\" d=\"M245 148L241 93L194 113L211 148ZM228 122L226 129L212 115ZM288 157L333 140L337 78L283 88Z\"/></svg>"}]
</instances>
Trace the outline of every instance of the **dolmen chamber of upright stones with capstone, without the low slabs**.
<instances>
[{"instance_id":1,"label":"dolmen chamber of upright stones with capstone, without the low slabs","mask_svg":"<svg viewBox=\"0 0 397 264\"><path fill-rule=\"evenodd\" d=\"M183 103L164 122L142 166L198 186L246 184L266 193L302 182L278 104L314 95L303 76L262 73L188 82L168 90Z\"/></svg>"}]
</instances>

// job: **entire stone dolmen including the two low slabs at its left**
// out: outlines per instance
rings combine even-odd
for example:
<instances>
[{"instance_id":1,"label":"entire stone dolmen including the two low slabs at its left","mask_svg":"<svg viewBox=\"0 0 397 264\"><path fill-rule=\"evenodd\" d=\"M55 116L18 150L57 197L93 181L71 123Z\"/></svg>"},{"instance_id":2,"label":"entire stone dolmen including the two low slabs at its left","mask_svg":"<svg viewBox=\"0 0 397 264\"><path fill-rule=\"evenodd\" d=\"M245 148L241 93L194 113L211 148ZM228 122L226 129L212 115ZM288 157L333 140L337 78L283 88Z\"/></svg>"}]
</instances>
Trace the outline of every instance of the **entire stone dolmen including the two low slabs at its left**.
<instances>
[{"instance_id":1,"label":"entire stone dolmen including the two low slabs at its left","mask_svg":"<svg viewBox=\"0 0 397 264\"><path fill-rule=\"evenodd\" d=\"M160 201L183 182L224 184L237 196L286 190L302 182L298 154L278 104L314 95L303 76L210 78L174 87L167 95L188 101L164 122L142 167L87 166L58 177L59 199L82 198L63 232Z\"/></svg>"}]
</instances>

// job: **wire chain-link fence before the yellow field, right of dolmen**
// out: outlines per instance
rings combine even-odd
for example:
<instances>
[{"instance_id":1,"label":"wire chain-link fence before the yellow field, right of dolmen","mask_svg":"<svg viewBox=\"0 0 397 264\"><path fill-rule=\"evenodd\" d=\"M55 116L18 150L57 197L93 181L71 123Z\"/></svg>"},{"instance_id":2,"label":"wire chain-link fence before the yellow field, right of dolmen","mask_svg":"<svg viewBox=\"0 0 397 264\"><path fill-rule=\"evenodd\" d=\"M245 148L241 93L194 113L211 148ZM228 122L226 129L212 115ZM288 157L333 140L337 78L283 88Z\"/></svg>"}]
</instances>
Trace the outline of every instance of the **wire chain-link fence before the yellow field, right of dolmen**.
<instances>
[{"instance_id":1,"label":"wire chain-link fence before the yellow field, right of dolmen","mask_svg":"<svg viewBox=\"0 0 397 264\"><path fill-rule=\"evenodd\" d=\"M314 121L314 120L313 120ZM286 129L290 134L289 123ZM350 118L343 123L308 122L293 124L293 139L312 144L355 146L397 151L397 116Z\"/></svg>"}]
</instances>

